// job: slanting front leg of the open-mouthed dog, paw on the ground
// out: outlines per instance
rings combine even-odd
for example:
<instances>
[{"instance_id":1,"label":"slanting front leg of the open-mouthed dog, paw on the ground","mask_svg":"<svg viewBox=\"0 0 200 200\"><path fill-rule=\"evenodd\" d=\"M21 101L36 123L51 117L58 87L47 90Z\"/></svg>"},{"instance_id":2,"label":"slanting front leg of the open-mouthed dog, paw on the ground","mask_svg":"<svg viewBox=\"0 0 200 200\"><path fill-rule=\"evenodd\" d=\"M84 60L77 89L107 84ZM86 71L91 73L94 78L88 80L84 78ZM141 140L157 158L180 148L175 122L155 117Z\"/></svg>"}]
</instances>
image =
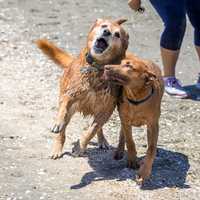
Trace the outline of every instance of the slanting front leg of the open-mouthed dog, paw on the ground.
<instances>
[{"instance_id":1,"label":"slanting front leg of the open-mouthed dog, paw on the ground","mask_svg":"<svg viewBox=\"0 0 200 200\"><path fill-rule=\"evenodd\" d=\"M93 123L90 125L88 130L83 133L80 140L72 149L74 156L82 156L85 153L89 141L98 131L101 131L103 125L108 121L111 114L112 112L102 112L94 117Z\"/></svg>"}]
</instances>

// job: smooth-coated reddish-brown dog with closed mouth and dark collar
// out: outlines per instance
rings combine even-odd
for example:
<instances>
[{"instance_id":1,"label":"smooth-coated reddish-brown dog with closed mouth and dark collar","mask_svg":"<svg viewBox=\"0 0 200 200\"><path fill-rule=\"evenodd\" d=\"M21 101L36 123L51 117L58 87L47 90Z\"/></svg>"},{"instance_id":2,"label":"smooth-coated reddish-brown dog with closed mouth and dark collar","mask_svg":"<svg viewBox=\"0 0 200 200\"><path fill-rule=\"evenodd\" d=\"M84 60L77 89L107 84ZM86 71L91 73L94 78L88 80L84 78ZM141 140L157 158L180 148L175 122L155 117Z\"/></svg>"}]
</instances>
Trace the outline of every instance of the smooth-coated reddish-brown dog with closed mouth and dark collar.
<instances>
[{"instance_id":1,"label":"smooth-coated reddish-brown dog with closed mouth and dark collar","mask_svg":"<svg viewBox=\"0 0 200 200\"><path fill-rule=\"evenodd\" d=\"M152 62L140 60L129 54L120 65L104 68L105 78L123 86L122 102L119 104L121 119L120 140L114 158L123 157L125 142L128 150L128 167L137 167L136 148L132 138L132 126L147 126L148 149L143 162L140 162L138 183L151 174L156 154L158 122L163 80L160 69Z\"/></svg>"}]
</instances>

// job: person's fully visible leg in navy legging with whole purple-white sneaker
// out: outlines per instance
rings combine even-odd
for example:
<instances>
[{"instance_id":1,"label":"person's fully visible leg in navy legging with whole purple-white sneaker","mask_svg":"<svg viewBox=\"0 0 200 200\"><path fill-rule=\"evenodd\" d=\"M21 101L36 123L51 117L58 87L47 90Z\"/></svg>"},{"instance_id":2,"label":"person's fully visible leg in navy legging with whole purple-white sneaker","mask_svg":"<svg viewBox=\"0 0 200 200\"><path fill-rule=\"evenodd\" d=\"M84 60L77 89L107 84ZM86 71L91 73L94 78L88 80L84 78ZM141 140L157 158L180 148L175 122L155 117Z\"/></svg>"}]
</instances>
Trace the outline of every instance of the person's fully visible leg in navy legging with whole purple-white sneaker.
<instances>
[{"instance_id":1,"label":"person's fully visible leg in navy legging with whole purple-white sneaker","mask_svg":"<svg viewBox=\"0 0 200 200\"><path fill-rule=\"evenodd\" d=\"M175 78L175 67L186 28L185 0L150 0L150 2L165 26L160 40L165 90L171 95L186 97L186 91Z\"/></svg>"}]
</instances>

